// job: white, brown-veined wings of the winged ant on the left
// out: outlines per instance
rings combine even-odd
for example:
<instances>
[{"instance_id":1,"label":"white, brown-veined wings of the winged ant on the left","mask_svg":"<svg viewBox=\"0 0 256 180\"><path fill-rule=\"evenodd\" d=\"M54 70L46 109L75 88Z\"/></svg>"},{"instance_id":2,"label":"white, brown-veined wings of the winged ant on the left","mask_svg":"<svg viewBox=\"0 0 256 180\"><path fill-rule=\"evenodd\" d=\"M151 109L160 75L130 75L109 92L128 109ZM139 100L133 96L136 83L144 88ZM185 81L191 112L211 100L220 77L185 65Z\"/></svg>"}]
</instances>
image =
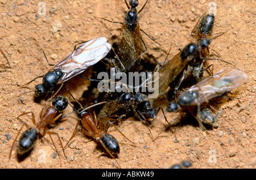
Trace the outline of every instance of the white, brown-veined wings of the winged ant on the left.
<instances>
[{"instance_id":1,"label":"white, brown-veined wings of the winged ant on the left","mask_svg":"<svg viewBox=\"0 0 256 180\"><path fill-rule=\"evenodd\" d=\"M60 60L49 71L61 70L63 76L60 83L68 81L104 58L110 49L111 45L107 43L105 37L97 37L80 45L79 48Z\"/></svg>"}]
</instances>

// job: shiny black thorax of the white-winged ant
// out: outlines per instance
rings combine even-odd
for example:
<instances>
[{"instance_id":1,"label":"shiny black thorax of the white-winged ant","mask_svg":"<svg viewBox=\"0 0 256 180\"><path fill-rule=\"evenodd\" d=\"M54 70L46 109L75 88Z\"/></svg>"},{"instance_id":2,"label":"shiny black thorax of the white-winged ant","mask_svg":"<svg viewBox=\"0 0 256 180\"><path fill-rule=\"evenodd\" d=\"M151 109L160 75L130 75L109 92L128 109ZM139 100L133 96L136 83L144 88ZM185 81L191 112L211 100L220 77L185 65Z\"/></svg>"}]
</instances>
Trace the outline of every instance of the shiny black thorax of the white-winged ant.
<instances>
[{"instance_id":1,"label":"shiny black thorax of the white-winged ant","mask_svg":"<svg viewBox=\"0 0 256 180\"><path fill-rule=\"evenodd\" d=\"M61 70L53 70L51 72L46 73L43 77L43 85L46 89L51 89L54 87L62 76Z\"/></svg>"}]
</instances>

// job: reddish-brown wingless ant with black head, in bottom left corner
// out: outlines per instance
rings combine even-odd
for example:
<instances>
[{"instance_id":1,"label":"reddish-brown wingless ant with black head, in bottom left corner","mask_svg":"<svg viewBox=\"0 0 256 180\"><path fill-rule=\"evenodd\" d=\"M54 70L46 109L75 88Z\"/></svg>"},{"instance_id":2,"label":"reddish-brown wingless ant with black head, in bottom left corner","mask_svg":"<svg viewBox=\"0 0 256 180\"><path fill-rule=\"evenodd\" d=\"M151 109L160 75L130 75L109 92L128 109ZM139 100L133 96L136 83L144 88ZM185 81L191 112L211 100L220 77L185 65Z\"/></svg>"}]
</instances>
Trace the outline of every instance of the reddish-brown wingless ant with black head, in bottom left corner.
<instances>
[{"instance_id":1,"label":"reddish-brown wingless ant with black head, in bottom left corner","mask_svg":"<svg viewBox=\"0 0 256 180\"><path fill-rule=\"evenodd\" d=\"M52 99L50 101L52 101L52 106L45 105L43 107L42 111L40 112L40 122L38 124L36 124L36 122L35 122L35 115L34 115L34 112L32 112L32 111L25 112L17 117L17 119L20 120L20 118L19 118L20 116L23 116L26 114L31 114L32 115L32 123L36 126L36 127L29 127L29 125L27 123L23 123L22 127L19 129L18 135L24 125L26 125L26 127L27 127L27 130L24 131L22 133L22 135L20 136L19 143L18 143L18 155L20 157L22 157L25 154L28 154L31 151L31 149L34 148L36 140L39 139L39 136L44 137L46 134L48 134L49 137L51 138L52 144L55 147L56 152L59 154L55 144L53 143L52 137L51 137L51 135L57 135L57 137L60 141L61 147L63 149L63 152L64 152L64 148L61 143L59 135L56 132L49 131L47 125L55 122L57 119L60 118L61 115L63 115L62 111L65 110L65 108L67 108L68 99L66 97L64 97L63 95L59 95L55 99ZM57 115L57 113L59 113L59 114ZM13 146L14 146L14 143L15 143L18 135L15 137L13 145L11 146L9 159L11 158L11 152L13 150ZM64 156L65 156L65 152L64 152Z\"/></svg>"}]
</instances>

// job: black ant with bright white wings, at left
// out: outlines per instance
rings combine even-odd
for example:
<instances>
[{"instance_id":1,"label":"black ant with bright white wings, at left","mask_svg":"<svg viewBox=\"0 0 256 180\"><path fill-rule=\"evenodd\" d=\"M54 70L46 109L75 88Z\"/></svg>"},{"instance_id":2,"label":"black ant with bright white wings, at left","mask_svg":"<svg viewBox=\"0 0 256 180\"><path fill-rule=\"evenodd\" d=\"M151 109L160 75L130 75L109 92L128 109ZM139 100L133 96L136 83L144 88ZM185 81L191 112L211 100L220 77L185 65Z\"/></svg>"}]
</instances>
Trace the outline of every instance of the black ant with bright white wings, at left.
<instances>
[{"instance_id":1,"label":"black ant with bright white wings, at left","mask_svg":"<svg viewBox=\"0 0 256 180\"><path fill-rule=\"evenodd\" d=\"M69 53L68 56L64 57L55 65L49 64L46 54L43 51L48 64L53 67L44 76L35 78L43 77L43 83L35 86L36 98L43 97L57 85L84 72L90 66L104 58L111 49L111 45L107 43L105 37L97 37L79 44L82 45L76 48L77 44L72 53ZM26 85L35 81L35 79Z\"/></svg>"}]
</instances>

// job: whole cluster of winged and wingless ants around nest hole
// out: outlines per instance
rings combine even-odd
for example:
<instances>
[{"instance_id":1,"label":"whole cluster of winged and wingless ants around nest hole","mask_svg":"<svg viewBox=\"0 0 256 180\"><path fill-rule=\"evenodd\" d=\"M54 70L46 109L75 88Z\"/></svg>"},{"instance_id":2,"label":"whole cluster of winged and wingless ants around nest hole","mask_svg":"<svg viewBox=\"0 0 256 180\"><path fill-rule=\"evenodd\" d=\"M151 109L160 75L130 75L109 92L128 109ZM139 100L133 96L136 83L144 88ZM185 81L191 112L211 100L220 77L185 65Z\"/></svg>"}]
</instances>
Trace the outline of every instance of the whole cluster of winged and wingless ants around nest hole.
<instances>
[{"instance_id":1,"label":"whole cluster of winged and wingless ants around nest hole","mask_svg":"<svg viewBox=\"0 0 256 180\"><path fill-rule=\"evenodd\" d=\"M148 0L146 3L147 2ZM125 15L124 22L120 23L122 24L121 35L116 48L110 45L105 37L97 37L80 43L81 45L79 47L77 47L77 44L72 53L65 56L57 64L52 65L53 67L44 76L40 76L40 78L43 78L43 81L42 84L35 86L35 98L45 98L48 97L49 94L52 94L51 98L48 100L52 103L52 106L44 106L43 110L40 112L40 122L38 124L36 124L33 112L26 112L20 115L31 114L32 123L35 124L35 127L29 127L27 123L23 123L22 128L26 125L27 130L24 131L19 138L18 154L22 155L30 152L39 137L43 137L46 134L50 137L51 135L57 135L57 133L49 131L47 125L61 118L63 110L65 110L69 104L72 106L74 112L77 112L79 120L73 131L73 135L65 146L63 146L59 135L57 135L63 152L77 132L81 131L87 136L94 137L96 141L104 147L106 152L115 159L119 153L119 144L118 141L108 133L110 125L113 125L113 127L123 135L114 124L125 119L127 116L135 116L150 129L148 119L156 119L159 110L162 110L164 114L162 107L154 107L155 102L159 101L160 95L168 102L166 112L187 111L191 114L195 114L195 112L191 110L191 107L197 107L195 118L200 127L204 129L205 124L213 124L215 120L209 108L203 111L200 110L200 104L235 89L246 81L246 74L237 68L222 70L214 75L209 70L210 65L207 64L207 60L210 59L208 57L208 47L214 38L223 33L212 34L214 14L205 13L200 17L191 32L191 36L196 39L195 42L185 45L183 49L180 49L177 55L167 62L164 61L162 65L157 63L153 64L153 75L150 79L147 79L147 82L155 82L156 80L159 82L159 98L154 99L154 103L151 104L147 93L130 91L127 88L128 85L125 83L115 86L115 91L104 91L101 93L94 91L94 89L98 87L98 82L101 81L97 79L98 72L109 72L110 68L114 67L115 72L111 75L117 76L118 73L121 72L144 72L148 70L147 64L141 61L141 56L144 54L141 52L143 43L141 32L146 33L139 27L138 20L138 14L143 10L144 6L146 6L146 3L144 3L139 11L136 9L138 0L131 0L129 3L125 0L125 3L129 11ZM152 38L150 37L150 39ZM115 53L115 50L117 50L117 53ZM113 55L115 55L115 58L112 57ZM45 53L44 56L46 57ZM90 67L93 68L92 77L87 78L81 76L81 73ZM210 74L210 77L203 79L205 70ZM154 76L156 73L158 73L158 77ZM188 74L191 74L191 76L188 76ZM75 76L80 76L91 81L89 89L85 91L82 98L88 102L93 101L93 104L83 107L79 101L73 98L73 95L68 89L68 83L67 90L80 108L76 108L69 103L68 99L63 95L56 96L63 83ZM39 77L35 79L37 78ZM182 92L182 82L184 82L184 79L188 78L193 79L193 81L190 81L193 84L191 87L183 88ZM147 82L142 83L147 84ZM118 88L121 87L126 87L125 89L127 91L118 91ZM168 92L166 93L167 90ZM97 108L93 108L96 106ZM92 110L92 113L89 112L89 109ZM18 116L18 119L20 116ZM166 116L164 116L164 118L166 119ZM167 119L166 122L168 122ZM171 125L169 122L168 124ZM22 128L19 129L18 135ZM14 143L18 135L15 137ZM123 136L127 139L125 135ZM53 143L52 137L51 141L56 152L59 153ZM14 143L11 146L10 157ZM131 141L131 143L133 142Z\"/></svg>"}]
</instances>

